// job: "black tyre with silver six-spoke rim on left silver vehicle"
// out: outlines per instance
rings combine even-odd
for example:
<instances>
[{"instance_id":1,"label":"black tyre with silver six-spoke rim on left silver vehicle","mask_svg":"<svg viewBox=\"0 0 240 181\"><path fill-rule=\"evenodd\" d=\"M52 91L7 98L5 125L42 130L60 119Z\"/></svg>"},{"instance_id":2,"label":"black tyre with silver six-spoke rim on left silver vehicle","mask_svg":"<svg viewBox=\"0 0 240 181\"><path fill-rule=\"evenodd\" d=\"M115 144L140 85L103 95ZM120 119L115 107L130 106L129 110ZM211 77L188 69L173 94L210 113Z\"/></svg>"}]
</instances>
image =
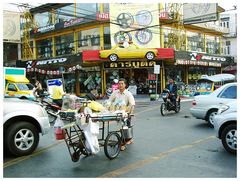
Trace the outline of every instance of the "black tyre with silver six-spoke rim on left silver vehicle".
<instances>
[{"instance_id":1,"label":"black tyre with silver six-spoke rim on left silver vehicle","mask_svg":"<svg viewBox=\"0 0 240 181\"><path fill-rule=\"evenodd\" d=\"M15 156L31 154L39 143L37 128L28 122L17 122L11 125L6 135L6 146Z\"/></svg>"}]
</instances>

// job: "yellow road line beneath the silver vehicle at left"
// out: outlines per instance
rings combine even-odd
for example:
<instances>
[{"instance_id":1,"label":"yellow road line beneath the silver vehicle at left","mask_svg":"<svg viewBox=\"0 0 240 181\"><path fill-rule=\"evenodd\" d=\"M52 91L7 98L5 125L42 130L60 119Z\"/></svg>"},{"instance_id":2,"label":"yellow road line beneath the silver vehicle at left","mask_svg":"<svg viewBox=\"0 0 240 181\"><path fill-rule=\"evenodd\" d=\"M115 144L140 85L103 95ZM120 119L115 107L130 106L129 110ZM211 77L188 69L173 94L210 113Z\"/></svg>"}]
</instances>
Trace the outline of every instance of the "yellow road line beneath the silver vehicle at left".
<instances>
[{"instance_id":1,"label":"yellow road line beneath the silver vehicle at left","mask_svg":"<svg viewBox=\"0 0 240 181\"><path fill-rule=\"evenodd\" d=\"M32 158L32 157L34 157L34 156L37 156L37 155L45 152L46 150L48 150L48 149L50 149L50 148L52 148L52 147L55 147L55 146L57 146L57 145L59 145L59 144L61 144L61 143L63 143L63 142L64 142L64 141L59 141L59 142L57 142L57 143L51 144L51 145L49 145L49 146L47 146L47 147L44 147L44 148L41 149L41 150L38 150L38 151L36 151L36 152L33 152L31 155L22 156L22 157L19 157L19 158L14 159L14 160L10 160L10 161L8 161L8 162L6 162L6 163L3 164L3 168L9 167L9 166L14 165L14 164L17 164L17 163L19 163L19 162L21 162L21 161L24 161L24 160L27 160L27 159Z\"/></svg>"}]
</instances>

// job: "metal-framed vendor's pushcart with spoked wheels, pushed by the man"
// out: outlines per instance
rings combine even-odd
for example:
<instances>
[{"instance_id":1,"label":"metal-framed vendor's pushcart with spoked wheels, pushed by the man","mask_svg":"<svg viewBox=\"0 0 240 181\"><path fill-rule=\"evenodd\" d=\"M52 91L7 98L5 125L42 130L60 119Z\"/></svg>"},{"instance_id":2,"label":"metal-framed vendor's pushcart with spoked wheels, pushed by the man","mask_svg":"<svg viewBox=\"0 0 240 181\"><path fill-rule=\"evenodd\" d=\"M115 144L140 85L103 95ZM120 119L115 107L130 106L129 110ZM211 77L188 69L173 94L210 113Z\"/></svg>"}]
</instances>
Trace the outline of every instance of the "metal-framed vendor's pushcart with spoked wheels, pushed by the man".
<instances>
[{"instance_id":1,"label":"metal-framed vendor's pushcart with spoked wheels, pushed by the man","mask_svg":"<svg viewBox=\"0 0 240 181\"><path fill-rule=\"evenodd\" d=\"M73 162L77 162L81 155L91 155L89 140L84 130L87 123L99 123L99 134L97 140L99 147L104 147L104 153L110 160L116 158L120 153L121 145L133 136L132 128L127 124L133 115L123 113L95 113L85 115L85 124L78 119L76 112L60 112L60 117L65 125L61 127L64 140ZM67 123L66 123L67 122ZM117 128L111 130L110 124L116 123Z\"/></svg>"}]
</instances>

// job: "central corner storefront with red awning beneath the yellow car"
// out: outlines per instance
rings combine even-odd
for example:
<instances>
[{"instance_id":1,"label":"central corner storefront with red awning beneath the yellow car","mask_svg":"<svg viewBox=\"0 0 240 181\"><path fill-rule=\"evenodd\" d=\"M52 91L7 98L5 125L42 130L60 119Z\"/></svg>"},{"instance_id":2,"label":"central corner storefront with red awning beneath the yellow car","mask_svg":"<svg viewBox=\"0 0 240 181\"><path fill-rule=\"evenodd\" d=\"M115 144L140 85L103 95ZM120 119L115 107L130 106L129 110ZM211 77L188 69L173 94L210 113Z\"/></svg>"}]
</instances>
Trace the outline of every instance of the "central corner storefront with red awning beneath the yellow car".
<instances>
[{"instance_id":1,"label":"central corner storefront with red awning beneath the yellow car","mask_svg":"<svg viewBox=\"0 0 240 181\"><path fill-rule=\"evenodd\" d=\"M154 60L146 59L119 59L111 62L109 59L99 57L99 50L84 50L82 52L83 64L92 65L101 63L102 92L105 95L108 88L113 84L114 79L125 78L136 91L133 94L155 94L156 86L158 94L164 86L164 63L174 62L174 49L156 48L158 55ZM160 74L154 74L154 65L160 65ZM157 85L156 85L157 78Z\"/></svg>"}]
</instances>

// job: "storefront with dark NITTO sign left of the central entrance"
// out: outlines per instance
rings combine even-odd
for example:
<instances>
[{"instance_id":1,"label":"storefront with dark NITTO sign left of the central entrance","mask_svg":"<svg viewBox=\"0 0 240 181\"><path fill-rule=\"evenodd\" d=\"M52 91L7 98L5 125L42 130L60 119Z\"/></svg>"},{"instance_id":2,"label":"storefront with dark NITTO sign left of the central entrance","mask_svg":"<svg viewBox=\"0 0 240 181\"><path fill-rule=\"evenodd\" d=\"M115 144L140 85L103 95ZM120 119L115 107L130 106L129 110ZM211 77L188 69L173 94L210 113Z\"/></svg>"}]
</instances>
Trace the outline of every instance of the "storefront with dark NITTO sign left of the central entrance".
<instances>
[{"instance_id":1,"label":"storefront with dark NITTO sign left of the central entrance","mask_svg":"<svg viewBox=\"0 0 240 181\"><path fill-rule=\"evenodd\" d=\"M66 92L76 92L79 89L75 83L77 75L75 71L83 69L81 53L51 59L31 60L26 61L25 64L29 80L33 81L33 77L36 77L42 83L43 88L47 88L47 80L63 78Z\"/></svg>"}]
</instances>

